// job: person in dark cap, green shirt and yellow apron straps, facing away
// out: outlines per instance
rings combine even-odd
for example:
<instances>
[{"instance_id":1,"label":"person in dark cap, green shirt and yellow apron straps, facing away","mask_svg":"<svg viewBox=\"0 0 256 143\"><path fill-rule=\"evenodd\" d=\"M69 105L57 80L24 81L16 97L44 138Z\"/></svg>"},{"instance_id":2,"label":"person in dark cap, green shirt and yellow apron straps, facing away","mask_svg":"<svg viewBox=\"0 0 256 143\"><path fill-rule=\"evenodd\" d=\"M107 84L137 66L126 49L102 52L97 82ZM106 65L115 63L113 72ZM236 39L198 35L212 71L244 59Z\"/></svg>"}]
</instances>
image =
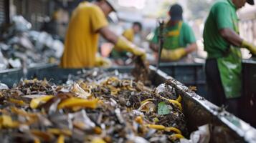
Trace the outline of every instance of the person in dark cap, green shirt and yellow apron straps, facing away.
<instances>
[{"instance_id":1,"label":"person in dark cap, green shirt and yellow apron straps, facing away","mask_svg":"<svg viewBox=\"0 0 256 143\"><path fill-rule=\"evenodd\" d=\"M183 9L174 4L169 10L170 20L163 27L163 49L161 61L179 61L196 50L196 38L191 27L183 21ZM150 47L158 51L159 27L155 30Z\"/></svg>"}]
</instances>

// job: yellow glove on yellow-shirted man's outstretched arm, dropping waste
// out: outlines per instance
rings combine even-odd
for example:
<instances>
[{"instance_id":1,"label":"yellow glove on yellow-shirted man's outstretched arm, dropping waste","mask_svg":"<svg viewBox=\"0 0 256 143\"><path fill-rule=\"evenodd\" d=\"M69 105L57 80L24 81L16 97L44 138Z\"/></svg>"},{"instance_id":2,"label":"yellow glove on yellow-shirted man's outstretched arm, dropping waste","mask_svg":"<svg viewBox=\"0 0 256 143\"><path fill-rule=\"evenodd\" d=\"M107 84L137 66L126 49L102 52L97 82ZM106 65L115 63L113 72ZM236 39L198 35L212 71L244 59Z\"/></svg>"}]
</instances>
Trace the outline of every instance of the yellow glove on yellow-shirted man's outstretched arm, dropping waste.
<instances>
[{"instance_id":1,"label":"yellow glove on yellow-shirted man's outstretched arm, dropping waste","mask_svg":"<svg viewBox=\"0 0 256 143\"><path fill-rule=\"evenodd\" d=\"M146 59L146 52L143 49L138 48L138 46L135 44L132 44L127 39L123 38L123 36L118 38L118 42L115 44L115 49L118 51L129 51L136 56L141 56L143 60Z\"/></svg>"}]
</instances>

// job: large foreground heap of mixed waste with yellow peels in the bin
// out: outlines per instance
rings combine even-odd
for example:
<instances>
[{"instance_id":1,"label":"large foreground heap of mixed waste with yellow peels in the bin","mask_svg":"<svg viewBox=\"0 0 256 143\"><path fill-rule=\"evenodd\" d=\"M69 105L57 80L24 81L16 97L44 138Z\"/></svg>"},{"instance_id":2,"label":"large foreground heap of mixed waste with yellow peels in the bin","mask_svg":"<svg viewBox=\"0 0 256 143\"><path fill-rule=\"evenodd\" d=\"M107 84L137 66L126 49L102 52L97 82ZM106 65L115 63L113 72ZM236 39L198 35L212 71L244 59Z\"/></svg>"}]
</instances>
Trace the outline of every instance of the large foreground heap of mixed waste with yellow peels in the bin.
<instances>
[{"instance_id":1,"label":"large foreground heap of mixed waste with yellow peels in the bin","mask_svg":"<svg viewBox=\"0 0 256 143\"><path fill-rule=\"evenodd\" d=\"M66 84L1 86L1 142L179 142L187 137L181 97L130 74L97 69Z\"/></svg>"}]
</instances>

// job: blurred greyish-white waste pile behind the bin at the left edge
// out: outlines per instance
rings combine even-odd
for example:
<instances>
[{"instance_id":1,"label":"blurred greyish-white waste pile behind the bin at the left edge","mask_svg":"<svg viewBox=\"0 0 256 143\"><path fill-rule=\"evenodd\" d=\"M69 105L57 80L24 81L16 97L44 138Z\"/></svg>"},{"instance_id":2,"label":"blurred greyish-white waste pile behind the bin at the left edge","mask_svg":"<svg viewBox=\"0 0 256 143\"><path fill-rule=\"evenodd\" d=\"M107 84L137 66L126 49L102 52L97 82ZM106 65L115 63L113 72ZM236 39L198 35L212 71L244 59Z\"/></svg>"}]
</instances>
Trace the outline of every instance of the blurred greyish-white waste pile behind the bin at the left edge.
<instances>
[{"instance_id":1,"label":"blurred greyish-white waste pile behind the bin at the left edge","mask_svg":"<svg viewBox=\"0 0 256 143\"><path fill-rule=\"evenodd\" d=\"M11 24L0 29L0 70L54 63L62 56L62 41L46 32L33 31L22 16L14 16Z\"/></svg>"}]
</instances>

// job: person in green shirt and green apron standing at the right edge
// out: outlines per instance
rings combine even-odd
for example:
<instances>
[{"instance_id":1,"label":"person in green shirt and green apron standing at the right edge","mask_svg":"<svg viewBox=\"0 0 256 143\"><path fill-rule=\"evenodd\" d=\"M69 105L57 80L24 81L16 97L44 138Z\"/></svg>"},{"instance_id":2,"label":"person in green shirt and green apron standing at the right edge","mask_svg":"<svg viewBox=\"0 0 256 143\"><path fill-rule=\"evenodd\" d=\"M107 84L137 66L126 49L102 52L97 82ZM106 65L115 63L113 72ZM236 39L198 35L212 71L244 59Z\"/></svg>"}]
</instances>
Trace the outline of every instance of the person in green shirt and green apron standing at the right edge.
<instances>
[{"instance_id":1,"label":"person in green shirt and green apron standing at the right edge","mask_svg":"<svg viewBox=\"0 0 256 143\"><path fill-rule=\"evenodd\" d=\"M242 56L240 47L256 54L256 46L239 35L237 10L253 0L217 1L209 11L204 27L207 91L210 101L237 114L237 99L241 96Z\"/></svg>"}]
</instances>

